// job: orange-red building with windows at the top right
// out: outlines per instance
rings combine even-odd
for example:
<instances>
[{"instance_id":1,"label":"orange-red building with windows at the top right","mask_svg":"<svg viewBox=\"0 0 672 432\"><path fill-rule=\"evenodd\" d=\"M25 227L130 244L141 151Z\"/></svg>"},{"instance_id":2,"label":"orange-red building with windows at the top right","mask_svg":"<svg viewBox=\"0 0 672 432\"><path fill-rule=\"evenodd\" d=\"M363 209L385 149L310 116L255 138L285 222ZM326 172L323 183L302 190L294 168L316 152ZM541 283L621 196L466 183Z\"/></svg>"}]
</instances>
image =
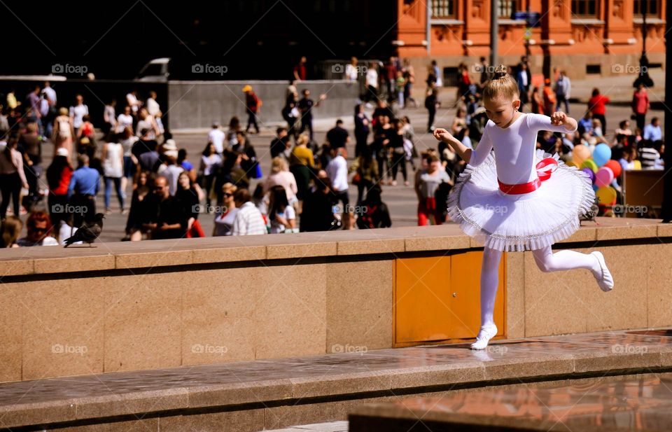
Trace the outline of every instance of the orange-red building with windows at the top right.
<instances>
[{"instance_id":1,"label":"orange-red building with windows at the top right","mask_svg":"<svg viewBox=\"0 0 672 432\"><path fill-rule=\"evenodd\" d=\"M646 4L645 4L646 2ZM642 8L647 8L646 51L650 67L664 67L664 0L499 0L499 62L515 65L529 50L534 74L565 69L570 78L587 74L636 74L642 51ZM460 62L490 55L490 0L398 0L398 55L408 57L417 82L430 60L444 83ZM538 13L538 27L514 19ZM429 20L429 25L428 25ZM526 31L527 30L527 31ZM526 41L529 41L526 43Z\"/></svg>"}]
</instances>

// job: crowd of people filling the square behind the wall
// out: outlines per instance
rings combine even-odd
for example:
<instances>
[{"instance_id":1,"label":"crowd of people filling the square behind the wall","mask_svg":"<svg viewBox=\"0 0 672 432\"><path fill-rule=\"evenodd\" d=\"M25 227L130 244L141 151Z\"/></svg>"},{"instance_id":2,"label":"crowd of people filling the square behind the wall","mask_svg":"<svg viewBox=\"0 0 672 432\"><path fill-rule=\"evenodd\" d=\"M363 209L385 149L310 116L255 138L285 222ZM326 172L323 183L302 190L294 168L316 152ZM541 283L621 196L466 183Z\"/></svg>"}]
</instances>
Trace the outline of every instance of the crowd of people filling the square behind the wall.
<instances>
[{"instance_id":1,"label":"crowd of people filling the square behind the wall","mask_svg":"<svg viewBox=\"0 0 672 432\"><path fill-rule=\"evenodd\" d=\"M347 79L358 79L362 72L357 65L353 57L344 69ZM491 78L489 69L484 58L471 67L458 67L449 132L469 148L477 146L488 121L481 90ZM242 89L246 127L236 116L227 127L214 121L203 151L192 160L163 126L155 92L144 99L129 92L122 109L110 101L100 125L92 124L82 95L71 106L62 106L49 83L36 86L23 103L9 92L0 115L2 245L63 244L97 213L101 192L105 214L111 214L116 195L118 209L127 219L123 240L130 241L385 228L392 222L382 200L383 186L397 186L398 180L416 194L418 225L447 221L445 203L465 162L442 142L420 153L416 150L414 127L400 111L417 106L412 93L415 74L407 60L391 57L369 64L365 97L353 107L353 130L337 120L321 144L314 139L312 110L326 95L314 101L309 90L299 89L305 79L304 58L293 74L282 110L286 125L277 128L269 144L272 161L267 176L249 139L249 134L260 131L262 106L251 85ZM519 85L521 111L528 106L547 115L561 109L569 112L571 85L564 71L535 87L528 60L522 57L510 74ZM442 75L436 62L428 65L427 132L434 130ZM577 144L594 148L605 143L624 169L661 168L664 140L658 118L646 123L650 109L646 88L640 85L635 90L631 118L622 120L612 133L605 119L609 102L594 89L577 132L542 132L538 148L571 160ZM53 153L44 170L47 148ZM348 148L354 150L350 159ZM617 190L619 182L615 179L613 184ZM351 186L357 189L353 202ZM28 213L27 234L22 236L20 216ZM204 232L199 221L203 217L213 218L212 232Z\"/></svg>"}]
</instances>

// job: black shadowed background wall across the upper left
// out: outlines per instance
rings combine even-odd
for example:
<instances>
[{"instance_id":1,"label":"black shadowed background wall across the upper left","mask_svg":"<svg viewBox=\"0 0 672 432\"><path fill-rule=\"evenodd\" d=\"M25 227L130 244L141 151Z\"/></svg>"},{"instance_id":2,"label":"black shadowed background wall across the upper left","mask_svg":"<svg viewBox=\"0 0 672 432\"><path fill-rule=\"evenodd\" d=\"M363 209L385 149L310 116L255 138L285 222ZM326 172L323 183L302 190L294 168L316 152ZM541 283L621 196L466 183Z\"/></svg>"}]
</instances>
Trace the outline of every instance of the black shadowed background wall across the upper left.
<instances>
[{"instance_id":1,"label":"black shadowed background wall across the upper left","mask_svg":"<svg viewBox=\"0 0 672 432\"><path fill-rule=\"evenodd\" d=\"M308 78L319 79L321 60L391 55L396 15L393 0L8 1L0 75L71 64L131 79L149 60L171 57L175 79L284 80L307 55ZM196 63L228 71L190 76Z\"/></svg>"}]
</instances>

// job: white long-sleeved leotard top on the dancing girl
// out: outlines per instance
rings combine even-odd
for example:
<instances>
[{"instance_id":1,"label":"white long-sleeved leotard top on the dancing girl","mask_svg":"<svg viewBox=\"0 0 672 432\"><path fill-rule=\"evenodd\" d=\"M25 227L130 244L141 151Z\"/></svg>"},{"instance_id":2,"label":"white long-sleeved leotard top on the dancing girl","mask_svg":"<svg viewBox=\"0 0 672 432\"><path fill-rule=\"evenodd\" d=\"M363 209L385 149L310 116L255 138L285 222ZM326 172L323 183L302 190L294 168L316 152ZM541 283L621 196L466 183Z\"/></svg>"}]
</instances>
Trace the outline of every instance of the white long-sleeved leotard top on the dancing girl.
<instances>
[{"instance_id":1,"label":"white long-sleeved leotard top on the dancing girl","mask_svg":"<svg viewBox=\"0 0 672 432\"><path fill-rule=\"evenodd\" d=\"M535 150L540 130L574 132L576 129L552 125L549 116L535 113L521 113L506 129L488 120L469 165L481 165L494 148L497 177L502 183L512 185L533 181L537 178Z\"/></svg>"}]
</instances>

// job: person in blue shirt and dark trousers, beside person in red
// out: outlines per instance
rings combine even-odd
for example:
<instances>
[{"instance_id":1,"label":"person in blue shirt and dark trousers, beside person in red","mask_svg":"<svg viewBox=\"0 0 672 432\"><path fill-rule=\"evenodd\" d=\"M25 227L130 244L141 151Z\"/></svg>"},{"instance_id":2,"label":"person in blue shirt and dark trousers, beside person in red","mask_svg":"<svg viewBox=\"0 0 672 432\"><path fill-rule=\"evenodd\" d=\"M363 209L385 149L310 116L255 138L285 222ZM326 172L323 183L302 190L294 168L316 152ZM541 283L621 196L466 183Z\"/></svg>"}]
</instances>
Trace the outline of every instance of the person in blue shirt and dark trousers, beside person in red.
<instances>
[{"instance_id":1,"label":"person in blue shirt and dark trousers, beside person in red","mask_svg":"<svg viewBox=\"0 0 672 432\"><path fill-rule=\"evenodd\" d=\"M83 221L91 221L96 214L96 195L100 187L100 174L89 167L89 157L80 155L79 167L72 174L68 186L69 209L73 212L73 226L79 228Z\"/></svg>"}]
</instances>

